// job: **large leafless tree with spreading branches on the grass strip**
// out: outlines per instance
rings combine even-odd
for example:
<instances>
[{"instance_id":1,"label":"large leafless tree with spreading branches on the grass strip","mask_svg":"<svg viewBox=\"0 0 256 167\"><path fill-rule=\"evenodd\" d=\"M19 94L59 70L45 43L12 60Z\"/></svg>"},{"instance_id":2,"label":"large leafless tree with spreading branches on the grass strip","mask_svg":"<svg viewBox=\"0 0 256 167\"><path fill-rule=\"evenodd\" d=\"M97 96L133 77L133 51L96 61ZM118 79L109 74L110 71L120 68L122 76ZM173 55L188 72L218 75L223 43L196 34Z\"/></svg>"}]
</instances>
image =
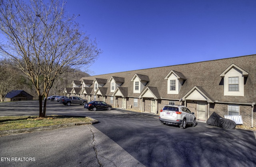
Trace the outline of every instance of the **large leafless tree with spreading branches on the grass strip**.
<instances>
[{"instance_id":1,"label":"large leafless tree with spreading branches on the grass strip","mask_svg":"<svg viewBox=\"0 0 256 167\"><path fill-rule=\"evenodd\" d=\"M35 86L40 117L46 116L42 98L56 77L70 68L87 67L101 53L64 8L65 2L58 0L0 0L0 32L7 41L0 44L0 52Z\"/></svg>"}]
</instances>

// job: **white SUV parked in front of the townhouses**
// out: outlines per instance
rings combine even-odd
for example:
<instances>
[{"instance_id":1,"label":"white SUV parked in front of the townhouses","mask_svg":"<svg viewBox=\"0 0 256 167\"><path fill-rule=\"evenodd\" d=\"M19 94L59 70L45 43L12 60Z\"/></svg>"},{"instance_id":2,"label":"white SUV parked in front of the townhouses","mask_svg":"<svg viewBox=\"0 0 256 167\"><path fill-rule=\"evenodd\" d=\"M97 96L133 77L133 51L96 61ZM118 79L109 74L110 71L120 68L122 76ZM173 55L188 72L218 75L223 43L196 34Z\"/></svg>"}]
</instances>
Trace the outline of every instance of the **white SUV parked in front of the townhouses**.
<instances>
[{"instance_id":1,"label":"white SUV parked in front of the townhouses","mask_svg":"<svg viewBox=\"0 0 256 167\"><path fill-rule=\"evenodd\" d=\"M182 125L186 128L187 124L196 126L196 116L186 106L166 105L160 110L159 120L162 124Z\"/></svg>"}]
</instances>

